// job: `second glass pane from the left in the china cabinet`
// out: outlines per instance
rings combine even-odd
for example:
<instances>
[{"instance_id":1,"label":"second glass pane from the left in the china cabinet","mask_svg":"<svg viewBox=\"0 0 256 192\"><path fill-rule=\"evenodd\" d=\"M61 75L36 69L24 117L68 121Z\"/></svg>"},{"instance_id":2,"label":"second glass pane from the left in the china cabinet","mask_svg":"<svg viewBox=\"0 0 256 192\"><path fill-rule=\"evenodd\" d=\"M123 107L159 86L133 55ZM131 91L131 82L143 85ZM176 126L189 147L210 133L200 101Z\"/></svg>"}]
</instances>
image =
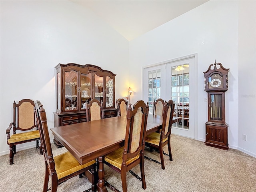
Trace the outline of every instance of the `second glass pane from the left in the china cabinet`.
<instances>
[{"instance_id":1,"label":"second glass pane from the left in the china cabinet","mask_svg":"<svg viewBox=\"0 0 256 192\"><path fill-rule=\"evenodd\" d=\"M81 74L81 109L92 99L92 74Z\"/></svg>"}]
</instances>

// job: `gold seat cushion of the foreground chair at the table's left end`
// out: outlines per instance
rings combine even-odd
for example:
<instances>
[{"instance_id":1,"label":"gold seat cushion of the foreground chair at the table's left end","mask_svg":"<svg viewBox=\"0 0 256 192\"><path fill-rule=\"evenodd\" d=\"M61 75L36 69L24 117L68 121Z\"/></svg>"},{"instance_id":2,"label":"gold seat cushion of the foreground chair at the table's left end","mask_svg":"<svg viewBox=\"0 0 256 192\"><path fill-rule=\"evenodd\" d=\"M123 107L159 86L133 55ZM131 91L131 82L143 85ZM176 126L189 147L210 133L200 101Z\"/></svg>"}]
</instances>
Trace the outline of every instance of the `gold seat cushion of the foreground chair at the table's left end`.
<instances>
[{"instance_id":1,"label":"gold seat cushion of the foreground chair at the table's left end","mask_svg":"<svg viewBox=\"0 0 256 192\"><path fill-rule=\"evenodd\" d=\"M70 152L65 152L63 154L54 156L54 162L58 179L64 178L65 176L96 163L95 160L92 160L81 165Z\"/></svg>"}]
</instances>

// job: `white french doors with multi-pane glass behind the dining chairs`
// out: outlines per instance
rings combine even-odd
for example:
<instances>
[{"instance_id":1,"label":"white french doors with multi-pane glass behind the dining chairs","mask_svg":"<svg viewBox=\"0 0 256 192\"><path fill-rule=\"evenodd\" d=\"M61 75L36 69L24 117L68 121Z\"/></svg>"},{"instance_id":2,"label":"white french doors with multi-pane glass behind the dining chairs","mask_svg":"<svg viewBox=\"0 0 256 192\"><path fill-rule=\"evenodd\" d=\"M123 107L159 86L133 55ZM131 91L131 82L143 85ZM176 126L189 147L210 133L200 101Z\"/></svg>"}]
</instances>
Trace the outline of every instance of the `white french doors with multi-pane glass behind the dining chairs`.
<instances>
[{"instance_id":1,"label":"white french doors with multi-pane glass behind the dining chairs","mask_svg":"<svg viewBox=\"0 0 256 192\"><path fill-rule=\"evenodd\" d=\"M195 112L197 111L197 82L195 56L171 60L144 68L144 100L149 102L150 113L158 98L172 99L174 116L172 133L195 138Z\"/></svg>"}]
</instances>

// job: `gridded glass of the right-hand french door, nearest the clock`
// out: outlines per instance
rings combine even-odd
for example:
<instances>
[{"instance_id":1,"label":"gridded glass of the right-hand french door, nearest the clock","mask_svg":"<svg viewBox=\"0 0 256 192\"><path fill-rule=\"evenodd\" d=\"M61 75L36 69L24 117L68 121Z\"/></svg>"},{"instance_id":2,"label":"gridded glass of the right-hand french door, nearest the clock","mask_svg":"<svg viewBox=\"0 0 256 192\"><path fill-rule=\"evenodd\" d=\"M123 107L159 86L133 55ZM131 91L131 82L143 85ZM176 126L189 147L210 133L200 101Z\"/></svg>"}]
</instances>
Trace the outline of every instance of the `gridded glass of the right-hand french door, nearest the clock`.
<instances>
[{"instance_id":1,"label":"gridded glass of the right-hand french door, nearest the clock","mask_svg":"<svg viewBox=\"0 0 256 192\"><path fill-rule=\"evenodd\" d=\"M174 116L178 123L172 126L189 129L189 64L172 66L172 100L175 102Z\"/></svg>"}]
</instances>

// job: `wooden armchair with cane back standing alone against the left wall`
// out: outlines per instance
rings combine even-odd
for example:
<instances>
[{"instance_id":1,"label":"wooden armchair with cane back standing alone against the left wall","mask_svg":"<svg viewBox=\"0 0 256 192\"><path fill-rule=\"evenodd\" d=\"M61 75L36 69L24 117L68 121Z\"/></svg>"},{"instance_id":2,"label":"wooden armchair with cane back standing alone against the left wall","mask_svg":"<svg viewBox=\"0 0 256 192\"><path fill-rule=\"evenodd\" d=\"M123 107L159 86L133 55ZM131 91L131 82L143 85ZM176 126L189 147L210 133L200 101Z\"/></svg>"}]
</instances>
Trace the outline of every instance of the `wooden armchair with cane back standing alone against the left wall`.
<instances>
[{"instance_id":1,"label":"wooden armchair with cane back standing alone against the left wall","mask_svg":"<svg viewBox=\"0 0 256 192\"><path fill-rule=\"evenodd\" d=\"M16 145L36 141L36 148L43 154L42 146L39 146L40 133L36 125L36 118L34 116L34 101L30 99L23 99L16 104L13 102L13 122L10 123L6 129L7 144L9 145L10 154L9 162L13 164L14 154L16 154ZM10 135L11 129L13 134ZM18 132L16 132L18 130Z\"/></svg>"}]
</instances>

